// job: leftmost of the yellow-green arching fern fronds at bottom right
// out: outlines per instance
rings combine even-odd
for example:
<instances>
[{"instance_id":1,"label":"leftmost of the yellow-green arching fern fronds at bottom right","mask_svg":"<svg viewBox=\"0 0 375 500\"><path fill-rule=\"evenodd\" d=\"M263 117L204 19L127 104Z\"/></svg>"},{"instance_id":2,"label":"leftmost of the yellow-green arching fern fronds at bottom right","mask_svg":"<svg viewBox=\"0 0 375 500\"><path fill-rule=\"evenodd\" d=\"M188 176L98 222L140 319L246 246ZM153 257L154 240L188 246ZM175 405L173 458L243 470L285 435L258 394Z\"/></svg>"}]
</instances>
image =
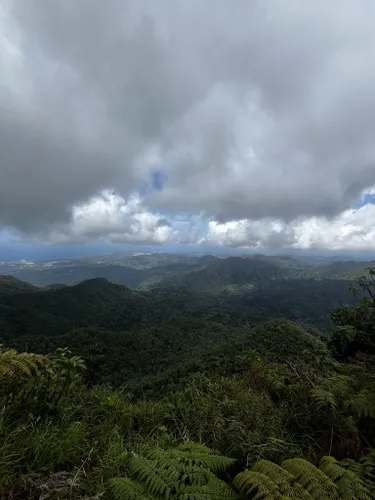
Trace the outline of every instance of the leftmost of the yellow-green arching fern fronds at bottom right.
<instances>
[{"instance_id":1,"label":"leftmost of the yellow-green arching fern fronds at bottom right","mask_svg":"<svg viewBox=\"0 0 375 500\"><path fill-rule=\"evenodd\" d=\"M245 496L256 500L281 500L282 494L277 484L266 474L245 470L237 474L234 487Z\"/></svg>"}]
</instances>

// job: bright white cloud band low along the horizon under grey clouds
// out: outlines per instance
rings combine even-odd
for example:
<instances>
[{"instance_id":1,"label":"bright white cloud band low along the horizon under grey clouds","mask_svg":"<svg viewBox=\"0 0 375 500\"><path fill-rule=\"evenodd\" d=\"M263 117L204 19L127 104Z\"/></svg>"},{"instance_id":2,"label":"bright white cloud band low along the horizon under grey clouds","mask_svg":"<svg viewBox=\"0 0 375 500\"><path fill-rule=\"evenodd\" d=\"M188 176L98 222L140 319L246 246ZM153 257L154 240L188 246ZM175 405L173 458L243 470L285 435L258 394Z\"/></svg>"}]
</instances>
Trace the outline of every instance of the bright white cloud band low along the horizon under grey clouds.
<instances>
[{"instance_id":1,"label":"bright white cloud band low along the horizon under grey clouds","mask_svg":"<svg viewBox=\"0 0 375 500\"><path fill-rule=\"evenodd\" d=\"M374 193L369 188L362 195ZM345 210L336 217L281 219L208 220L203 214L176 213L164 216L151 211L145 198L128 199L105 190L86 203L73 206L69 222L52 224L34 233L9 234L19 240L54 244L88 241L133 244L202 244L262 250L326 249L374 250L375 205L367 203ZM0 233L1 235L1 233Z\"/></svg>"}]
</instances>

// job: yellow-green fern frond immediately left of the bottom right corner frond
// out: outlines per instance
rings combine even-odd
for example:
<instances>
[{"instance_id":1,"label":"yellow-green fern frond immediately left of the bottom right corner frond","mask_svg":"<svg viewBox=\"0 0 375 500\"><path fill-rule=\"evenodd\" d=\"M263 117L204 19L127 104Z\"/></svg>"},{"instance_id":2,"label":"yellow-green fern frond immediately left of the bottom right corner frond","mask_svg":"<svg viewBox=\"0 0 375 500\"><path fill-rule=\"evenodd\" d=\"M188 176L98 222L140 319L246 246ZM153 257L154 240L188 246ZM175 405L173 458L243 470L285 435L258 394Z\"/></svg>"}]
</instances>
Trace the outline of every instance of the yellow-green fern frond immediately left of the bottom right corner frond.
<instances>
[{"instance_id":1,"label":"yellow-green fern frond immediately left of the bottom right corner frond","mask_svg":"<svg viewBox=\"0 0 375 500\"><path fill-rule=\"evenodd\" d=\"M313 498L338 499L338 487L324 472L302 458L285 460L282 468L292 474Z\"/></svg>"}]
</instances>

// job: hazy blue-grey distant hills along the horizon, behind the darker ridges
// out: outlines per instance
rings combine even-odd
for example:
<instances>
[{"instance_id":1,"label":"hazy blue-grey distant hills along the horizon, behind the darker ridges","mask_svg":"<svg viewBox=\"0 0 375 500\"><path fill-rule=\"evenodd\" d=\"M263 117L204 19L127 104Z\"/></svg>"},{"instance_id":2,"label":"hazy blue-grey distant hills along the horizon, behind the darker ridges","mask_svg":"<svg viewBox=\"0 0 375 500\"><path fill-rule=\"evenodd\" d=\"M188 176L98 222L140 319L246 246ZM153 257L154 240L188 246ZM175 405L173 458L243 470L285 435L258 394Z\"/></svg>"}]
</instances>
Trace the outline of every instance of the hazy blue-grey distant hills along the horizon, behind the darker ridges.
<instances>
[{"instance_id":1,"label":"hazy blue-grey distant hills along the horizon, behind the darker ridges","mask_svg":"<svg viewBox=\"0 0 375 500\"><path fill-rule=\"evenodd\" d=\"M269 280L353 279L373 262L320 260L311 265L291 256L247 255L219 258L212 255L109 255L55 262L0 263L0 274L37 286L74 285L91 278L106 278L130 288L150 289L178 284L194 292L242 292Z\"/></svg>"}]
</instances>

